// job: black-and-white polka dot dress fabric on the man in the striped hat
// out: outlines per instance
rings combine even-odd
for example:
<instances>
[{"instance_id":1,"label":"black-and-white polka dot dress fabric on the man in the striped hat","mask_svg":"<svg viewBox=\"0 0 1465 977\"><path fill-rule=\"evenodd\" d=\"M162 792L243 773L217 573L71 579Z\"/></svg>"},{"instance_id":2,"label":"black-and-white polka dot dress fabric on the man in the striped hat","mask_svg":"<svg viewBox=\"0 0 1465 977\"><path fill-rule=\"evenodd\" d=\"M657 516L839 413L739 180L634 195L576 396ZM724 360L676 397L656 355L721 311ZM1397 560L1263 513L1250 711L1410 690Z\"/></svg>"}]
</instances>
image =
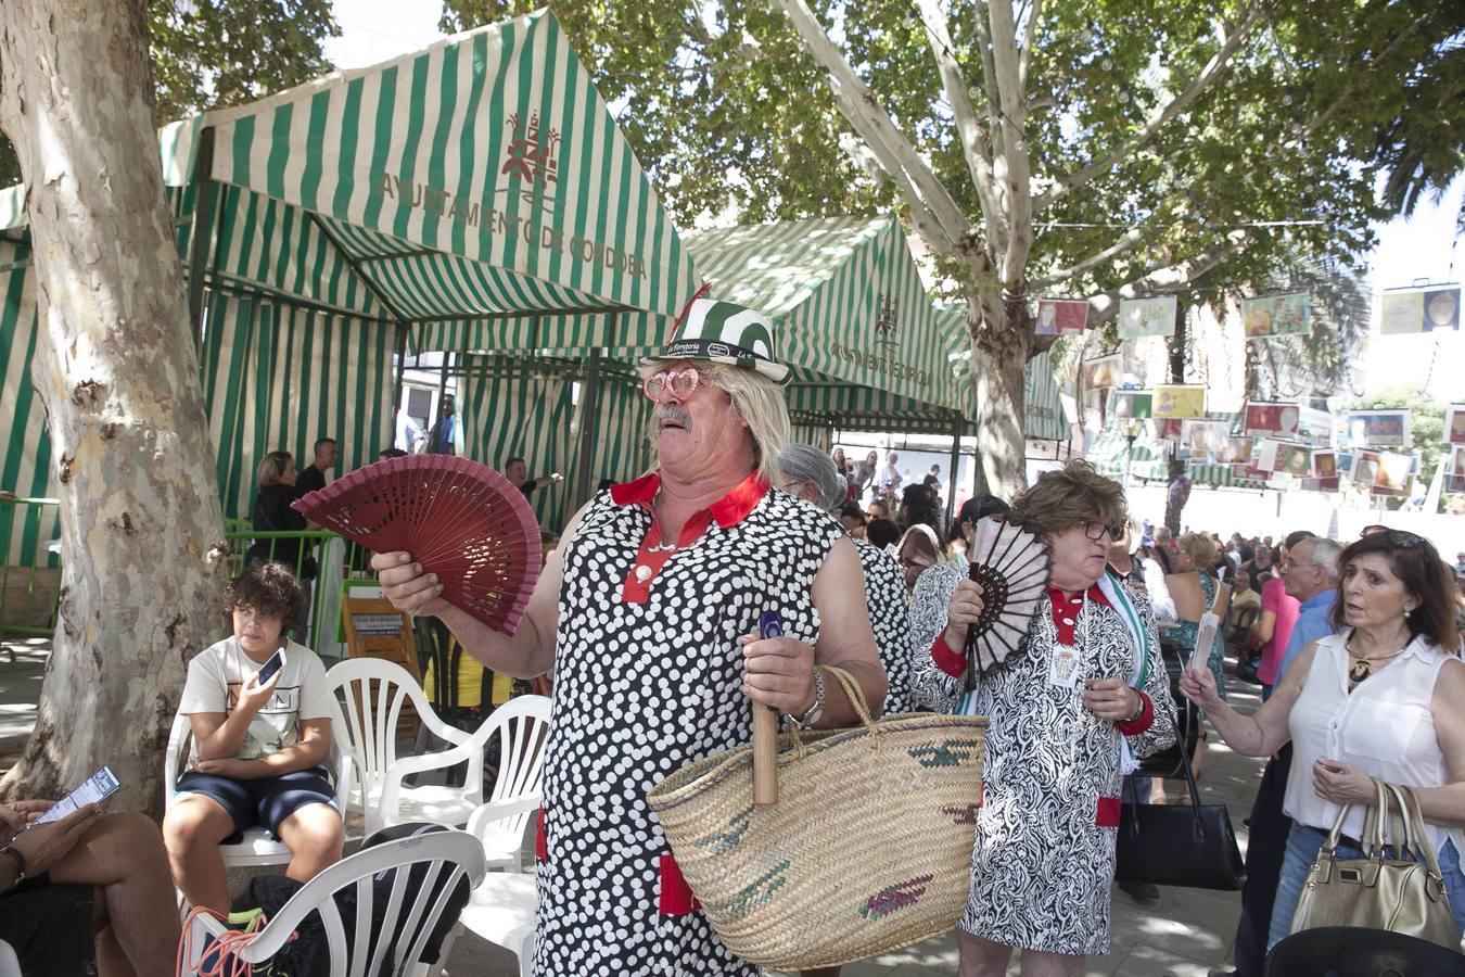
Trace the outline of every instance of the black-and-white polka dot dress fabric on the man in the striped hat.
<instances>
[{"instance_id":1,"label":"black-and-white polka dot dress fabric on the man in the striped hat","mask_svg":"<svg viewBox=\"0 0 1465 977\"><path fill-rule=\"evenodd\" d=\"M815 574L841 535L828 514L768 492L738 524L713 521L671 555L645 603L620 599L650 529L602 492L564 549L554 725L545 757L535 973L541 977L757 974L702 913L658 911L670 854L646 791L752 738L737 639L776 611L815 643Z\"/></svg>"}]
</instances>

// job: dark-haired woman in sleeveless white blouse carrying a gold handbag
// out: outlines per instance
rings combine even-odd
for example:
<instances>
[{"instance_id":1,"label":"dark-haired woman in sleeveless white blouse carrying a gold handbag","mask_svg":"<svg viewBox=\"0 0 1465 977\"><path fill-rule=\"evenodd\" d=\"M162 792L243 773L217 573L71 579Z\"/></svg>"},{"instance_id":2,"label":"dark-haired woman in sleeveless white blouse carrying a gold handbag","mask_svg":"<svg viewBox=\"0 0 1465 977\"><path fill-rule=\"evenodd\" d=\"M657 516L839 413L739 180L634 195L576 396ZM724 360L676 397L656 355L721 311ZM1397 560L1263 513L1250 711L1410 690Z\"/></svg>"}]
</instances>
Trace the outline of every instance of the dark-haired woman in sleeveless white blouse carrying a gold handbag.
<instances>
[{"instance_id":1,"label":"dark-haired woman in sleeveless white blouse carrying a gold handbag","mask_svg":"<svg viewBox=\"0 0 1465 977\"><path fill-rule=\"evenodd\" d=\"M1270 756L1292 741L1285 803L1292 833L1269 948L1292 929L1308 867L1339 806L1374 803L1370 776L1415 788L1450 911L1465 927L1465 664L1444 562L1427 539L1387 530L1348 546L1339 565L1338 633L1308 644L1256 715L1223 703L1209 671L1181 678L1185 697L1238 753ZM1358 857L1362 828L1355 809L1339 854Z\"/></svg>"}]
</instances>

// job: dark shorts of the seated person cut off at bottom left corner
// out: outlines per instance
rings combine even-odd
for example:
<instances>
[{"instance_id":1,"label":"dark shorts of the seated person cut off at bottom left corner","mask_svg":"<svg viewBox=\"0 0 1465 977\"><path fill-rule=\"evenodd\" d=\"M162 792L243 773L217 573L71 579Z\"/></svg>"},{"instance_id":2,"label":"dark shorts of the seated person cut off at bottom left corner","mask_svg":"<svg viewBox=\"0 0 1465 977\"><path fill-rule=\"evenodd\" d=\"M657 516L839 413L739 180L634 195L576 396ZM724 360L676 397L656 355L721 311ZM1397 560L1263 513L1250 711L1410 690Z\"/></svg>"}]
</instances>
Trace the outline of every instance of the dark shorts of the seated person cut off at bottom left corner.
<instances>
[{"instance_id":1,"label":"dark shorts of the seated person cut off at bottom left corner","mask_svg":"<svg viewBox=\"0 0 1465 977\"><path fill-rule=\"evenodd\" d=\"M92 974L92 888L26 879L0 896L0 939L22 974Z\"/></svg>"}]
</instances>

